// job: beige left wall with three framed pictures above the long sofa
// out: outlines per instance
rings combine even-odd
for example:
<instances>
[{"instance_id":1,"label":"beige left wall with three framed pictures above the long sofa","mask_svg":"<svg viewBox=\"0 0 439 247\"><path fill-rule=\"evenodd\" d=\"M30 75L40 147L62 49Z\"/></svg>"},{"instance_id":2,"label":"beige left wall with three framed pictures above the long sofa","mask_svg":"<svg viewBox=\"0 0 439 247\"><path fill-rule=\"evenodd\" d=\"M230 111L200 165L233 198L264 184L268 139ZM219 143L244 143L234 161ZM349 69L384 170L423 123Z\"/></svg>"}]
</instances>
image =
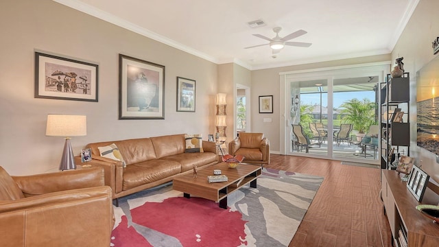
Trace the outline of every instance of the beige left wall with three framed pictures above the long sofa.
<instances>
[{"instance_id":1,"label":"beige left wall with three framed pictures above the long sofa","mask_svg":"<svg viewBox=\"0 0 439 247\"><path fill-rule=\"evenodd\" d=\"M48 113L87 115L75 154L95 141L214 131L217 64L49 0L1 1L0 32L0 165L10 174L57 169L64 139L45 136ZM34 98L36 49L99 64L99 102ZM119 54L165 65L164 120L118 120ZM196 80L195 113L176 112L177 76Z\"/></svg>"}]
</instances>

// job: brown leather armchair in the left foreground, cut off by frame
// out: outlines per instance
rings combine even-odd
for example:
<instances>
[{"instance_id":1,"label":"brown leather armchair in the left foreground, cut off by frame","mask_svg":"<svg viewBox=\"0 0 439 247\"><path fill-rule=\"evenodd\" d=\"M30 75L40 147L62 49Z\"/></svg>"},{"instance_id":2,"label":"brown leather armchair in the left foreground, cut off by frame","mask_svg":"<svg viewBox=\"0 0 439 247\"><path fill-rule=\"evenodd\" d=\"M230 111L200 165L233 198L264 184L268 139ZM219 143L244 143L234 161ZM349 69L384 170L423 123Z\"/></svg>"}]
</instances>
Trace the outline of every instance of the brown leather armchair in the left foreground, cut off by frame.
<instances>
[{"instance_id":1,"label":"brown leather armchair in the left foreground, cut off by frame","mask_svg":"<svg viewBox=\"0 0 439 247\"><path fill-rule=\"evenodd\" d=\"M1 246L110 246L114 215L102 168L10 176L0 167Z\"/></svg>"}]
</instances>

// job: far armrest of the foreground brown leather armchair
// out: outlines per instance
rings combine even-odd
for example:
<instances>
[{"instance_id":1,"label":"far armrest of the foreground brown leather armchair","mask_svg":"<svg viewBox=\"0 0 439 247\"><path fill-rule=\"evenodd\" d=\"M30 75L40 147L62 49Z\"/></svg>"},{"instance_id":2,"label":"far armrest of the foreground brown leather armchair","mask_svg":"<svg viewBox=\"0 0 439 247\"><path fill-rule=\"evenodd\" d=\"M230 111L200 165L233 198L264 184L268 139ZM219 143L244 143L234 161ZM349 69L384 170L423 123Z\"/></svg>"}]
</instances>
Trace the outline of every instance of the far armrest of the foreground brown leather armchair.
<instances>
[{"instance_id":1,"label":"far armrest of the foreground brown leather armchair","mask_svg":"<svg viewBox=\"0 0 439 247\"><path fill-rule=\"evenodd\" d=\"M12 179L27 197L56 191L103 186L104 169L94 167L30 176L12 176Z\"/></svg>"}]
</instances>

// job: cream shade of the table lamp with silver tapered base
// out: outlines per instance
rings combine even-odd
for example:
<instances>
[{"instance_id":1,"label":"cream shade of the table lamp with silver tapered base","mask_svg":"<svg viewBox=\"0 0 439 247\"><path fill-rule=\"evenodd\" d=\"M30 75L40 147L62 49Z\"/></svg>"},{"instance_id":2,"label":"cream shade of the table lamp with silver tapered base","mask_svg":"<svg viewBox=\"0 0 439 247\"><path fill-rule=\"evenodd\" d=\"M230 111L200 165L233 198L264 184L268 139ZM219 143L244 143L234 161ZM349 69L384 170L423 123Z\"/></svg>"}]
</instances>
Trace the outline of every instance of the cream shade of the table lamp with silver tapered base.
<instances>
[{"instance_id":1,"label":"cream shade of the table lamp with silver tapered base","mask_svg":"<svg viewBox=\"0 0 439 247\"><path fill-rule=\"evenodd\" d=\"M46 135L49 137L78 137L87 134L87 116L47 115Z\"/></svg>"}]
</instances>

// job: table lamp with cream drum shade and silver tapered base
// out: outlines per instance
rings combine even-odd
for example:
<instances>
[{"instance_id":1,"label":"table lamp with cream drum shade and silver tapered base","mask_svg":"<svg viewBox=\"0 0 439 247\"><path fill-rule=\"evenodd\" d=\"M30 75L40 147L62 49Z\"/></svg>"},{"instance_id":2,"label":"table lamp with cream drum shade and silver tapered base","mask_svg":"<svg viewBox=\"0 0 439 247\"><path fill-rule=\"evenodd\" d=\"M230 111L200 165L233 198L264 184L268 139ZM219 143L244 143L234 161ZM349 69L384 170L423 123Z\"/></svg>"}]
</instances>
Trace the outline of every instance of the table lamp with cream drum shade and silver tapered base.
<instances>
[{"instance_id":1,"label":"table lamp with cream drum shade and silver tapered base","mask_svg":"<svg viewBox=\"0 0 439 247\"><path fill-rule=\"evenodd\" d=\"M46 136L64 137L64 151L60 162L60 170L76 169L70 137L87 134L87 117L82 115L47 115Z\"/></svg>"}]
</instances>

